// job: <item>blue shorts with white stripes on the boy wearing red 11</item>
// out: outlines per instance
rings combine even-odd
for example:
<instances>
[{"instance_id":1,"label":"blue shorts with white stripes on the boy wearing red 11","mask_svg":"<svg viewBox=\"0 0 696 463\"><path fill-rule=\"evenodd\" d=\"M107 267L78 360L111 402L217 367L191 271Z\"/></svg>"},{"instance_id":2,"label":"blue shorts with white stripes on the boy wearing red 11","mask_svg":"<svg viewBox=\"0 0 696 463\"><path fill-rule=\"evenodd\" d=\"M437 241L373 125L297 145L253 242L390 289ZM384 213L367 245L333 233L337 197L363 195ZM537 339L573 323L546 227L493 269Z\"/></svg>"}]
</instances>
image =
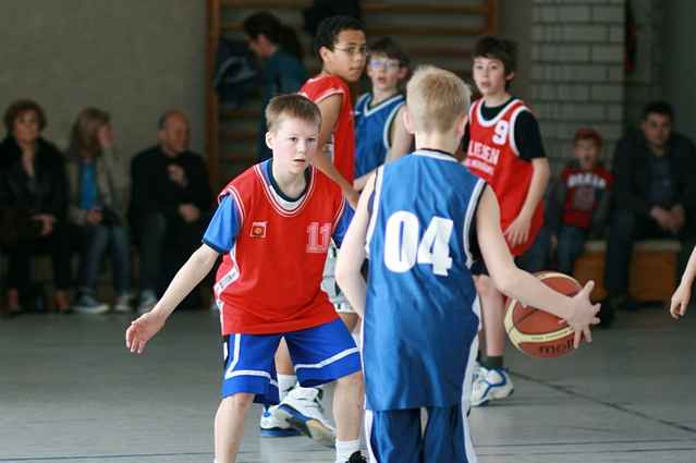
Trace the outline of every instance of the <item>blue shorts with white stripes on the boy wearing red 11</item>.
<instances>
[{"instance_id":1,"label":"blue shorts with white stripes on the boy wearing red 11","mask_svg":"<svg viewBox=\"0 0 696 463\"><path fill-rule=\"evenodd\" d=\"M331 382L362 369L359 351L340 318L298 331L230 334L223 342L222 398L247 392L256 394L254 402L278 403L274 356L283 338L302 387Z\"/></svg>"}]
</instances>

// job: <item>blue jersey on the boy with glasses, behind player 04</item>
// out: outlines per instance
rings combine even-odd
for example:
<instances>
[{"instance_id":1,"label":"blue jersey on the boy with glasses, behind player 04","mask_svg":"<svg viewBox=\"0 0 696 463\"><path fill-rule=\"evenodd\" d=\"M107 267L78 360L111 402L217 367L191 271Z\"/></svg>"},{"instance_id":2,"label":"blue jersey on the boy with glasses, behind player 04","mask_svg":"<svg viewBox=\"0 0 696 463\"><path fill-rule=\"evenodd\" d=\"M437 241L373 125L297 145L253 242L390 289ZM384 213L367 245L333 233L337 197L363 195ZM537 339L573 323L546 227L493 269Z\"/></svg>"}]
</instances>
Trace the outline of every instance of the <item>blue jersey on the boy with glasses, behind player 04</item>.
<instances>
[{"instance_id":1,"label":"blue jersey on the boy with glasses, behind player 04","mask_svg":"<svg viewBox=\"0 0 696 463\"><path fill-rule=\"evenodd\" d=\"M391 124L406 98L394 95L370 108L373 94L361 96L355 102L355 178L384 163L390 148Z\"/></svg>"}]
</instances>

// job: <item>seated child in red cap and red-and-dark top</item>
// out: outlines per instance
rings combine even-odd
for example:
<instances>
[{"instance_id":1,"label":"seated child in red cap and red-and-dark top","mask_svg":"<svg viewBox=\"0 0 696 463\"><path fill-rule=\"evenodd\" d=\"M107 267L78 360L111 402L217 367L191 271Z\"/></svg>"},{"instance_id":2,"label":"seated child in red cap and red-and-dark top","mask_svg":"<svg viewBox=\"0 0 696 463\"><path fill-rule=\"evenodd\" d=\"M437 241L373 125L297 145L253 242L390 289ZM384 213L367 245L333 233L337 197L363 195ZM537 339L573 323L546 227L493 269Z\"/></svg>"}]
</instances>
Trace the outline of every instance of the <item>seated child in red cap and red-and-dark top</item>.
<instances>
[{"instance_id":1,"label":"seated child in red cap and red-and-dark top","mask_svg":"<svg viewBox=\"0 0 696 463\"><path fill-rule=\"evenodd\" d=\"M548 202L547 228L555 247L559 271L573 275L587 239L601 236L609 212L611 173L601 158L602 139L581 129L573 139L574 158L561 171Z\"/></svg>"}]
</instances>

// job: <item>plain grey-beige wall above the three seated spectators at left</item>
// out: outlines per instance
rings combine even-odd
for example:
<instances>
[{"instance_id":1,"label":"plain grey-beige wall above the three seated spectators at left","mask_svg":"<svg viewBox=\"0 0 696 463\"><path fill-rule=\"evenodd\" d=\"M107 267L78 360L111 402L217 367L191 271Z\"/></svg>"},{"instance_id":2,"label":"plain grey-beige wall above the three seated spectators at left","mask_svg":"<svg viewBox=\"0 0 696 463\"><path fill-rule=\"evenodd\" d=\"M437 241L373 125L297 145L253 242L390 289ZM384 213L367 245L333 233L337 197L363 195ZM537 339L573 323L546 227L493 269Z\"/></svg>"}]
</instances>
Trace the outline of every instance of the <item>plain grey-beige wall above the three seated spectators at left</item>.
<instances>
[{"instance_id":1,"label":"plain grey-beige wall above the three seated spectators at left","mask_svg":"<svg viewBox=\"0 0 696 463\"><path fill-rule=\"evenodd\" d=\"M0 110L36 99L64 147L80 108L103 108L131 156L155 143L162 111L181 108L200 151L205 32L204 1L3 0Z\"/></svg>"}]
</instances>

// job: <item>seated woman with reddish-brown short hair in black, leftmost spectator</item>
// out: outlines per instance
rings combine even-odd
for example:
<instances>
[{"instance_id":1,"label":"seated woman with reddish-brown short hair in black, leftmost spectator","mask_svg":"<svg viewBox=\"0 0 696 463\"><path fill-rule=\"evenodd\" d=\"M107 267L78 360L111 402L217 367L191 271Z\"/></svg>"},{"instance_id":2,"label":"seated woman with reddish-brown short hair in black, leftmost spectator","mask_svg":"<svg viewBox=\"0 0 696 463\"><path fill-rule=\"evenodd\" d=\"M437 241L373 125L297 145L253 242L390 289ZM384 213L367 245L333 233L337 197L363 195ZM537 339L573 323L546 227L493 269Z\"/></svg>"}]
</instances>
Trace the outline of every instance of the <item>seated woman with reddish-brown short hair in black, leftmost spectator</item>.
<instances>
[{"instance_id":1,"label":"seated woman with reddish-brown short hair in black, leftmost spectator","mask_svg":"<svg viewBox=\"0 0 696 463\"><path fill-rule=\"evenodd\" d=\"M32 100L19 100L4 114L7 137L0 144L0 205L14 217L8 247L8 310L22 310L21 297L32 288L32 257L51 255L56 292L53 305L70 310L70 234L65 223L68 182L62 154L41 138L46 115ZM7 216L5 216L7 217ZM3 223L2 227L8 227Z\"/></svg>"}]
</instances>

